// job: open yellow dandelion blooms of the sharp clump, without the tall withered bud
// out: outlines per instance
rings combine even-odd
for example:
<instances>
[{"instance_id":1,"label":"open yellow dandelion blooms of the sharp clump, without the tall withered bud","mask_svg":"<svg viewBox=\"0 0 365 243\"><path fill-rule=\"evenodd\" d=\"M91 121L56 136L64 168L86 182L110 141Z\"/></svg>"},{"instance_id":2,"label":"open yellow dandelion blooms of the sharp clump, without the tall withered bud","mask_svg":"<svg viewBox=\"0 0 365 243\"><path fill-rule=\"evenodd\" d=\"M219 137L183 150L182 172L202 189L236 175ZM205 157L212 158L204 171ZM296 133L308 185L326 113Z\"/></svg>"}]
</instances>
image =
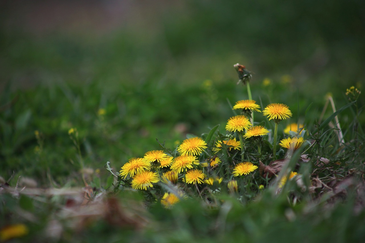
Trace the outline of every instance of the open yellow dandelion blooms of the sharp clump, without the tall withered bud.
<instances>
[{"instance_id":1,"label":"open yellow dandelion blooms of the sharp clump, without the tall withered bud","mask_svg":"<svg viewBox=\"0 0 365 243\"><path fill-rule=\"evenodd\" d=\"M260 144L255 141L262 139L269 130L264 126L253 126L250 122L252 112L261 112L260 106L254 100L238 101L233 109L240 109L245 115L228 119L226 130L231 134L226 138L217 136L212 145L209 145L203 138L191 137L185 139L173 152L148 151L141 158L129 159L121 167L120 177L128 181L133 189L158 190L159 200L166 208L186 198L189 193L201 196L204 189L220 192L222 184L226 185L229 193L237 194L239 186L236 178L244 181L248 175L252 178L258 177L253 173L258 169L259 158L250 160L242 148L249 146L247 143L252 143L261 152ZM292 115L284 104L270 104L264 109L264 114L277 123ZM291 126L287 129L297 130L297 124ZM303 142L302 137L289 137L281 140L280 145L295 150ZM223 151L227 151L228 156L237 156L227 161L227 154ZM262 186L257 189L262 189Z\"/></svg>"}]
</instances>

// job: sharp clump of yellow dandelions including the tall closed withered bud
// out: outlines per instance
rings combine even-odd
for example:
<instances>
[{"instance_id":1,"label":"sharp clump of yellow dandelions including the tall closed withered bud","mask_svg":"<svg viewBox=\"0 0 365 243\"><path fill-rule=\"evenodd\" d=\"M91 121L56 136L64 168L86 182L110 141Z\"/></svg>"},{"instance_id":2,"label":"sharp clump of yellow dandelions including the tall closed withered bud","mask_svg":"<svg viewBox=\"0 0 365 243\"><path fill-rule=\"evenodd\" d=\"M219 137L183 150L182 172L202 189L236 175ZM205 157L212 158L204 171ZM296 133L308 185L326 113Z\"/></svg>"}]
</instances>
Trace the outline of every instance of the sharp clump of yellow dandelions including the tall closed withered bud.
<instances>
[{"instance_id":1,"label":"sharp clump of yellow dandelions including the tall closed withered bud","mask_svg":"<svg viewBox=\"0 0 365 243\"><path fill-rule=\"evenodd\" d=\"M266 186L268 185L268 177L264 178L263 174L257 173L258 168L263 164L262 158L265 158L263 162L267 166L275 162L277 155L280 155L276 149L278 125L282 120L290 118L292 112L287 105L281 103L269 104L261 111L260 105L251 98L250 72L239 64L235 65L235 68L239 74L239 83L247 86L249 99L235 103L233 109L241 114L227 120L225 128L231 134L222 136L218 132L215 138L212 135L207 139L208 143L198 136L190 137L174 151L160 144L164 150L148 151L141 158L129 159L121 167L120 178L123 185L147 192L153 190L151 194L155 200L159 200L166 208L172 207L189 195L203 198L204 194L219 193L225 188L232 195L238 196L241 192L242 197L242 193L245 194L249 190L263 190L265 186L261 183L266 182ZM353 87L346 93L347 96L354 97L359 94L360 91ZM274 122L272 141L266 136L270 132L267 128L260 124L255 125L254 112L262 112L269 121ZM284 129L287 136L278 144L293 153L306 142L303 129L303 124L290 123ZM213 133L215 134L215 131ZM266 143L272 143L271 151L263 151L264 139ZM257 153L248 154L246 148L249 147L251 150L257 148ZM297 172L294 171L282 176L277 184L278 188L282 188L288 180L296 176ZM240 190L242 186L246 188Z\"/></svg>"}]
</instances>

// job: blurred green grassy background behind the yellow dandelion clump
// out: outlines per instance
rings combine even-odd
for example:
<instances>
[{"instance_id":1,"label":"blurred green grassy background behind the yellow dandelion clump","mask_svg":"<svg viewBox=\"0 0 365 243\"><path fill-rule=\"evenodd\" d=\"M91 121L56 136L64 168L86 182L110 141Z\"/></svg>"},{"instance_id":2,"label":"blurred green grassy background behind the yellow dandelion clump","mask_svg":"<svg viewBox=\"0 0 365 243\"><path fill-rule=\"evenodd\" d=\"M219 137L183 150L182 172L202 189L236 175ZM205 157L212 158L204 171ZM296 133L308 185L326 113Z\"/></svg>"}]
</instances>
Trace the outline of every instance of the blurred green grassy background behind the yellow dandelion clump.
<instances>
[{"instance_id":1,"label":"blurred green grassy background behind the yellow dandelion clump","mask_svg":"<svg viewBox=\"0 0 365 243\"><path fill-rule=\"evenodd\" d=\"M80 183L72 127L101 178L105 162L118 170L156 138L173 148L216 124L225 132L227 100L247 99L237 62L253 72L253 99L288 104L292 122L364 84L361 0L5 0L0 23L4 178Z\"/></svg>"}]
</instances>

